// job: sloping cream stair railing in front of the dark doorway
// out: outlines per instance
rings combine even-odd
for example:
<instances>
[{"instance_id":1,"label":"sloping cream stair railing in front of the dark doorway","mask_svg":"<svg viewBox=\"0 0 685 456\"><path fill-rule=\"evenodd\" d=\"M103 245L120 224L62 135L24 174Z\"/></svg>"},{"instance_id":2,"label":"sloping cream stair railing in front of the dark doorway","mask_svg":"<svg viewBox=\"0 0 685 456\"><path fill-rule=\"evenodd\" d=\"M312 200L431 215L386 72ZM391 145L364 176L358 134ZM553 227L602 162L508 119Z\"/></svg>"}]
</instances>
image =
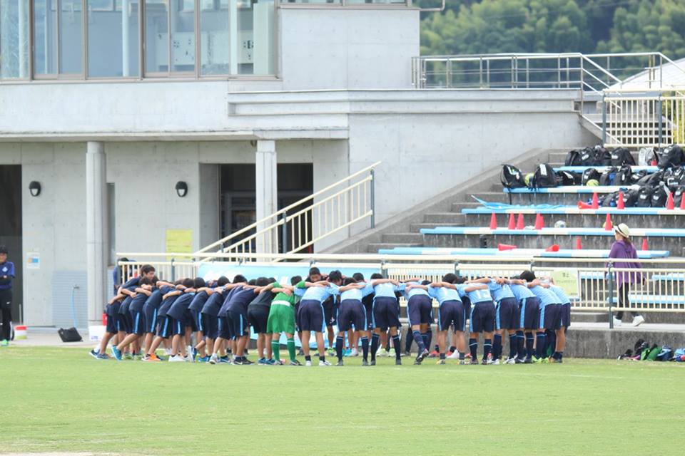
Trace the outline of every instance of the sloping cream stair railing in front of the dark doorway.
<instances>
[{"instance_id":1,"label":"sloping cream stair railing in front of the dark doorway","mask_svg":"<svg viewBox=\"0 0 685 456\"><path fill-rule=\"evenodd\" d=\"M192 257L215 252L235 254L235 258L249 253L285 254L301 252L313 247L340 230L364 219L375 227L375 167L367 166L328 187L300 199L273 214L239 229L223 239L198 250Z\"/></svg>"}]
</instances>

